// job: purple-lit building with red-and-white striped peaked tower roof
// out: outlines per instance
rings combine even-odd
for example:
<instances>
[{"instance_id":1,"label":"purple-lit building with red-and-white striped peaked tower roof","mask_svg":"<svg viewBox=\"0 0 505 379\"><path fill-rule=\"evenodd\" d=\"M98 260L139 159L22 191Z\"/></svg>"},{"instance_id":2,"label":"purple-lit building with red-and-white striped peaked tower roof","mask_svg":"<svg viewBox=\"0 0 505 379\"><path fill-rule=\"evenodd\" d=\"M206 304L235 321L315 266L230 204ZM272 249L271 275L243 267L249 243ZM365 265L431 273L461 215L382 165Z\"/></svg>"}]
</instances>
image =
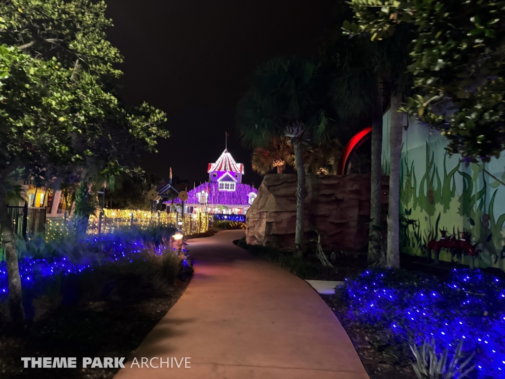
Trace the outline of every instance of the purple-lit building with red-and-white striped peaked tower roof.
<instances>
[{"instance_id":1,"label":"purple-lit building with red-and-white striped peaked tower roof","mask_svg":"<svg viewBox=\"0 0 505 379\"><path fill-rule=\"evenodd\" d=\"M251 185L242 183L244 165L236 163L225 149L215 163L209 163L207 173L209 182L188 191L184 211L245 214L256 199L258 191ZM174 203L181 201L176 199Z\"/></svg>"}]
</instances>

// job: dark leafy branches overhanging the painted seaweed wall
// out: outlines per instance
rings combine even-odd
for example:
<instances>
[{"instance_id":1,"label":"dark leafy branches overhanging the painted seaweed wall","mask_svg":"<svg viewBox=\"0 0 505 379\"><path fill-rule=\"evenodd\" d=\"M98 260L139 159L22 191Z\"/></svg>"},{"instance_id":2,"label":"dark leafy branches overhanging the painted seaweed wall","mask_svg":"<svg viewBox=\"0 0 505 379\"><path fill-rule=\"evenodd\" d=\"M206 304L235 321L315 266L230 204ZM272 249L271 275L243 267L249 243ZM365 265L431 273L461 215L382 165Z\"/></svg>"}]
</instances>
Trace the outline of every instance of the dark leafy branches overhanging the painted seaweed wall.
<instances>
[{"instance_id":1,"label":"dark leafy branches overhanging the painted seaweed wall","mask_svg":"<svg viewBox=\"0 0 505 379\"><path fill-rule=\"evenodd\" d=\"M416 95L403 110L436 127L466 160L505 149L505 2L352 0L350 33L387 39L407 26Z\"/></svg>"}]
</instances>

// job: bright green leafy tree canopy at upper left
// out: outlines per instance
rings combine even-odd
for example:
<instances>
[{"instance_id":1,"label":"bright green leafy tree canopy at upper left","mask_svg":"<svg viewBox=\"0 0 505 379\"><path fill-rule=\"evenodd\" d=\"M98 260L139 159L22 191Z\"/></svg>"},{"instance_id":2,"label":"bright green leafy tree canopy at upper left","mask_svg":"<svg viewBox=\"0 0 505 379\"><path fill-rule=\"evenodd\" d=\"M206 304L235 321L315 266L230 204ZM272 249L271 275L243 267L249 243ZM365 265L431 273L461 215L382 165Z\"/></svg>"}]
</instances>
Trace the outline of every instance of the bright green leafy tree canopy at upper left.
<instances>
[{"instance_id":1,"label":"bright green leafy tree canopy at upper left","mask_svg":"<svg viewBox=\"0 0 505 379\"><path fill-rule=\"evenodd\" d=\"M94 165L113 174L169 136L162 111L118 99L122 57L106 39L105 9L87 0L0 1L0 169L51 176L51 168Z\"/></svg>"}]
</instances>

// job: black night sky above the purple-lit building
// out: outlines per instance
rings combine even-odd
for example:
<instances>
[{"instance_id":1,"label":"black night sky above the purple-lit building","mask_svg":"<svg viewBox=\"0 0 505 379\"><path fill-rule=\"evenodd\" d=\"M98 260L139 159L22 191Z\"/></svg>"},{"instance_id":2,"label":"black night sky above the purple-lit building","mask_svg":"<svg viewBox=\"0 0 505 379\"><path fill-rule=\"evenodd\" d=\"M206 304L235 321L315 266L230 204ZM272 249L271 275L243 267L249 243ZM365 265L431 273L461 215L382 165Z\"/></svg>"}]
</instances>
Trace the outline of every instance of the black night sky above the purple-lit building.
<instances>
[{"instance_id":1,"label":"black night sky above the purple-lit building","mask_svg":"<svg viewBox=\"0 0 505 379\"><path fill-rule=\"evenodd\" d=\"M333 25L334 0L106 0L109 40L125 58L120 94L167 113L171 137L145 154L147 172L208 179L207 164L225 148L257 187L251 150L236 132L235 109L252 74L278 55L315 55Z\"/></svg>"}]
</instances>

